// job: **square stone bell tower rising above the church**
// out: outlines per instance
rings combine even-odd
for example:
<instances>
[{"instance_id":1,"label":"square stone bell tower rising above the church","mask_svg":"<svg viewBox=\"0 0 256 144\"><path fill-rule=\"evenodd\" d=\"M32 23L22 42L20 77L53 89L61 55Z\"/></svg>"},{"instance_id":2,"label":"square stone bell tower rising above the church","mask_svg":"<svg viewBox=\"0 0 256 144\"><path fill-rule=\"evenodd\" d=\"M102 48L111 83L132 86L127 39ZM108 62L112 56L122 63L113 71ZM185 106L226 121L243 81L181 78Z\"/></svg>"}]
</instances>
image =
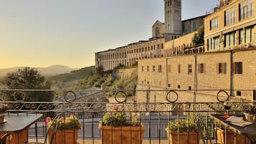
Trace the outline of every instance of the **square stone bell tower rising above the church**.
<instances>
[{"instance_id":1,"label":"square stone bell tower rising above the church","mask_svg":"<svg viewBox=\"0 0 256 144\"><path fill-rule=\"evenodd\" d=\"M181 36L181 0L164 0L164 23L166 42Z\"/></svg>"}]
</instances>

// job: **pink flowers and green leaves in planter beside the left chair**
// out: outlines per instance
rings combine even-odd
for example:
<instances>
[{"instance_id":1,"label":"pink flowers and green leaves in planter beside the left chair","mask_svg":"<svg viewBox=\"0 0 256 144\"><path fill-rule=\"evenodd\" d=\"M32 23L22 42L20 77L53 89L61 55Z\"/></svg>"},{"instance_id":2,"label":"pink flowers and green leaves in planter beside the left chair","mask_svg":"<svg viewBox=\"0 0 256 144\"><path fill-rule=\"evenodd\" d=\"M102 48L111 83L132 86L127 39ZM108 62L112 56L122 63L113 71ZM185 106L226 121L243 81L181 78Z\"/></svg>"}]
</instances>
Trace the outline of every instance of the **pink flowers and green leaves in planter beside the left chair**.
<instances>
[{"instance_id":1,"label":"pink flowers and green leaves in planter beside the left chair","mask_svg":"<svg viewBox=\"0 0 256 144\"><path fill-rule=\"evenodd\" d=\"M48 128L52 127L52 118L47 117L45 120L45 123L48 125ZM81 129L81 125L79 123L79 120L75 115L70 115L70 117L60 117L59 119L56 119L53 123L56 124L58 123L58 128L57 130L79 130Z\"/></svg>"}]
</instances>

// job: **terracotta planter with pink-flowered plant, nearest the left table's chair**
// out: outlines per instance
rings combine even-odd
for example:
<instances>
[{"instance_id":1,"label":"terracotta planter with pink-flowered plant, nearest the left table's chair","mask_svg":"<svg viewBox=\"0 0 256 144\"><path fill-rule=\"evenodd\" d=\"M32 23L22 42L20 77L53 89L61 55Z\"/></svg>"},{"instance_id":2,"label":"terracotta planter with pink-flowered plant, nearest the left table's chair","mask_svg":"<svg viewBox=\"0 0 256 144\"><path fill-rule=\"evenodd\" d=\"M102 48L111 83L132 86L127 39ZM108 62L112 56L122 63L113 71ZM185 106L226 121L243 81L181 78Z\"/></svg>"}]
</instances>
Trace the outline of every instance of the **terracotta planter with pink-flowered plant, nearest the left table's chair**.
<instances>
[{"instance_id":1,"label":"terracotta planter with pink-flowered plant, nearest the left table's chair","mask_svg":"<svg viewBox=\"0 0 256 144\"><path fill-rule=\"evenodd\" d=\"M76 144L77 143L77 132L81 129L79 120L75 115L70 117L60 117L55 120L52 124L52 118L47 117L46 123L49 128L49 140L52 138L52 127L54 123L58 123L57 132L54 135L52 144Z\"/></svg>"}]
</instances>

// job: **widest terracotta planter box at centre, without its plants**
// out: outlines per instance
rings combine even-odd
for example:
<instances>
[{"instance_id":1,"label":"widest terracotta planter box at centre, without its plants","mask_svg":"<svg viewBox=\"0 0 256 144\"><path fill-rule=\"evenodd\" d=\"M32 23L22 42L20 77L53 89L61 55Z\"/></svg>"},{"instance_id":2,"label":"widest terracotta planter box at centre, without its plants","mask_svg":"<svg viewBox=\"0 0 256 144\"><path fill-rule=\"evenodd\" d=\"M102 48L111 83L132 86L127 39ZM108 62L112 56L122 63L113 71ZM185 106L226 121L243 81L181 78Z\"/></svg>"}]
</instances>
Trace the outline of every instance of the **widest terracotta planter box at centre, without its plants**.
<instances>
[{"instance_id":1,"label":"widest terracotta planter box at centre, without its plants","mask_svg":"<svg viewBox=\"0 0 256 144\"><path fill-rule=\"evenodd\" d=\"M143 126L113 127L99 125L103 144L133 143L141 144L145 128Z\"/></svg>"}]
</instances>

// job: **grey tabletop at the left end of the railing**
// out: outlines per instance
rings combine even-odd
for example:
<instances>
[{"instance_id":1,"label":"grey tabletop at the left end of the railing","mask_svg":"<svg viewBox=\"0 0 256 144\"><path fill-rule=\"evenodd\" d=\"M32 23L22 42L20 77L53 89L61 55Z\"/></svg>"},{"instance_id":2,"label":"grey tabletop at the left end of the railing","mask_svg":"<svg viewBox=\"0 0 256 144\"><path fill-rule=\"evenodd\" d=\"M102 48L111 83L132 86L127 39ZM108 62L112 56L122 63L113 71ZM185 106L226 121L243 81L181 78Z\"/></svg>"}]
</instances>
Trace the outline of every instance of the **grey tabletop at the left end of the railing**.
<instances>
[{"instance_id":1,"label":"grey tabletop at the left end of the railing","mask_svg":"<svg viewBox=\"0 0 256 144\"><path fill-rule=\"evenodd\" d=\"M35 121L39 120L42 114L36 113L16 113L5 114L6 123L0 124L0 133L15 133L28 128Z\"/></svg>"}]
</instances>

